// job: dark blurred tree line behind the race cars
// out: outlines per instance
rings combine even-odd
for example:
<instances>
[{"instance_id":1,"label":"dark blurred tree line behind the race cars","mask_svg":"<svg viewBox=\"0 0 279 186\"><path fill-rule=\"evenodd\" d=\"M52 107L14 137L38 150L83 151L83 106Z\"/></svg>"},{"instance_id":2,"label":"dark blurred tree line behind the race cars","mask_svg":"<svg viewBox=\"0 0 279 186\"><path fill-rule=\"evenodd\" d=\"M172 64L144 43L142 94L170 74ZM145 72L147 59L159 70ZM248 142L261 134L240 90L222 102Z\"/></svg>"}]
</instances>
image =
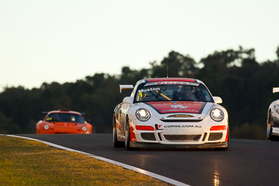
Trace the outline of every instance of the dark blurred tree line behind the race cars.
<instances>
[{"instance_id":1,"label":"dark blurred tree line behind the race cars","mask_svg":"<svg viewBox=\"0 0 279 186\"><path fill-rule=\"evenodd\" d=\"M265 139L266 112L279 95L272 93L279 86L278 59L258 63L255 49L227 49L213 52L195 61L191 56L169 52L158 63L140 70L128 66L121 75L96 73L77 82L43 83L31 90L22 86L6 87L0 93L0 134L35 133L36 122L43 118L41 111L70 109L85 113L91 120L93 132L112 132L112 114L130 91L119 93L119 84L134 84L139 79L169 77L200 79L212 95L223 98L229 113L231 137Z\"/></svg>"}]
</instances>

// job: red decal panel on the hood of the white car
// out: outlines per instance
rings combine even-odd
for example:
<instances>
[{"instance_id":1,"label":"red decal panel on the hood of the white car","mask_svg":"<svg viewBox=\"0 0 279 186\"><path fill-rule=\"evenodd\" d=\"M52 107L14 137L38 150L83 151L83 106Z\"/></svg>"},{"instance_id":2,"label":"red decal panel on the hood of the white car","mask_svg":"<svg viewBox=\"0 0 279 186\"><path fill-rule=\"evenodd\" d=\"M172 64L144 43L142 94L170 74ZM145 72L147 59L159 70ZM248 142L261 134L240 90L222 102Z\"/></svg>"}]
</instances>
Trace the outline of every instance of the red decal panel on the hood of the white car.
<instances>
[{"instance_id":1,"label":"red decal panel on the hood of the white car","mask_svg":"<svg viewBox=\"0 0 279 186\"><path fill-rule=\"evenodd\" d=\"M160 114L193 113L201 114L206 102L147 102Z\"/></svg>"}]
</instances>

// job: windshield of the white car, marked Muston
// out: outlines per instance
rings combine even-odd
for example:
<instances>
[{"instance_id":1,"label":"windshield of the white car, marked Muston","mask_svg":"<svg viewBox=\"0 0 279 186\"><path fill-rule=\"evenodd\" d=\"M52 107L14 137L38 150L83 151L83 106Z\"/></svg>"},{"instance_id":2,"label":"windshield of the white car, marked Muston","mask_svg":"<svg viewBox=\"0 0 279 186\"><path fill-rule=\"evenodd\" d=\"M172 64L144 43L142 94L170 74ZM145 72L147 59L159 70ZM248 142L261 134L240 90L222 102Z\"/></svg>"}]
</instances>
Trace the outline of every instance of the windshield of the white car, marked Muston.
<instances>
[{"instance_id":1,"label":"windshield of the white car, marked Muston","mask_svg":"<svg viewBox=\"0 0 279 186\"><path fill-rule=\"evenodd\" d=\"M140 84L135 102L197 101L213 102L204 84L191 82L151 82Z\"/></svg>"}]
</instances>

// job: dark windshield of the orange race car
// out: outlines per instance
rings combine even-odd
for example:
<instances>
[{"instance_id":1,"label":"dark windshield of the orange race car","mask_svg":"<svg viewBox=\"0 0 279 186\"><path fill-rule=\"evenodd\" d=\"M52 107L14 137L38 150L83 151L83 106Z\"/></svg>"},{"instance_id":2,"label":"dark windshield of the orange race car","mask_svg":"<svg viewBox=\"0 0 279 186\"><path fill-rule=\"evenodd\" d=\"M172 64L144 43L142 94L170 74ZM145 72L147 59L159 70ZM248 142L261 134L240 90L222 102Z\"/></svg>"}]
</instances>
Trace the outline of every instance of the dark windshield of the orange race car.
<instances>
[{"instance_id":1,"label":"dark windshield of the orange race car","mask_svg":"<svg viewBox=\"0 0 279 186\"><path fill-rule=\"evenodd\" d=\"M45 118L50 122L68 122L68 123L84 123L82 116L78 114L52 113Z\"/></svg>"}]
</instances>

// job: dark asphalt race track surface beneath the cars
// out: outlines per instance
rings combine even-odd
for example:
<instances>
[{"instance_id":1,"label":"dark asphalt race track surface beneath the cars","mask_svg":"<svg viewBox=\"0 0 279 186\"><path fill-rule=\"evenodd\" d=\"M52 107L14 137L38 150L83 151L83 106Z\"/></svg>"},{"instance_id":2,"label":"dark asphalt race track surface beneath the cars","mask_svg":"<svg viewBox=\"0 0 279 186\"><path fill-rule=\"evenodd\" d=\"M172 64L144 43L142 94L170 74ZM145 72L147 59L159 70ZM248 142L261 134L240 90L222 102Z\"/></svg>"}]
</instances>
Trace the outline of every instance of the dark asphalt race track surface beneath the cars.
<instances>
[{"instance_id":1,"label":"dark asphalt race track surface beneath the cars","mask_svg":"<svg viewBox=\"0 0 279 186\"><path fill-rule=\"evenodd\" d=\"M106 157L188 185L279 185L279 141L231 139L229 150L126 150L112 134L21 134Z\"/></svg>"}]
</instances>

